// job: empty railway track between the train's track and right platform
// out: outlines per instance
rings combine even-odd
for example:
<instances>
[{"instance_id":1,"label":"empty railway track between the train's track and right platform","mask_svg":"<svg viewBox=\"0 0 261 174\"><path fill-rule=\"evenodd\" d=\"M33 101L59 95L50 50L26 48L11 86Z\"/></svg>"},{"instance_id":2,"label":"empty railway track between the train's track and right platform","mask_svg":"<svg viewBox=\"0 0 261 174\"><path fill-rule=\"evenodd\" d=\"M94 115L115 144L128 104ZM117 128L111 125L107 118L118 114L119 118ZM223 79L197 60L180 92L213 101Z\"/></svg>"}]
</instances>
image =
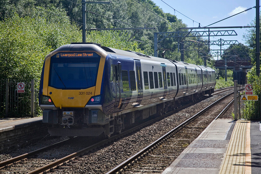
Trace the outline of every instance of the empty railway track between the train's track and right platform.
<instances>
[{"instance_id":1,"label":"empty railway track between the train's track and right platform","mask_svg":"<svg viewBox=\"0 0 261 174\"><path fill-rule=\"evenodd\" d=\"M204 108L106 174L162 173L214 119L220 117L231 105L232 94Z\"/></svg>"}]
</instances>

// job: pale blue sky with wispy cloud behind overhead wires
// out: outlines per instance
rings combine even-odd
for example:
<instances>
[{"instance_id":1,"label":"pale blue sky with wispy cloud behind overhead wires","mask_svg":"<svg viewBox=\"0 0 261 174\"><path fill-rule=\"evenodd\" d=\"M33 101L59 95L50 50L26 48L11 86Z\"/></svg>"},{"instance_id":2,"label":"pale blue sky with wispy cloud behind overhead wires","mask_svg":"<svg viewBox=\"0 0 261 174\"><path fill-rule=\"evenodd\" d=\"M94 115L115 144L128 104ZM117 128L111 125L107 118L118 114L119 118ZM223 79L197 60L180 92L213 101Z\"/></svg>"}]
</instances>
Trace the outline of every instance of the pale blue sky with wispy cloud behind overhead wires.
<instances>
[{"instance_id":1,"label":"pale blue sky with wispy cloud behind overhead wires","mask_svg":"<svg viewBox=\"0 0 261 174\"><path fill-rule=\"evenodd\" d=\"M152 0L159 6L165 13L176 15L181 19L187 27L198 27L199 23L202 26L210 25L214 22L225 19L236 13L244 11L245 9L254 7L255 0ZM169 7L166 3L169 6ZM174 11L173 8L176 10ZM261 9L261 8L260 8ZM183 16L183 15L187 16ZM210 25L209 27L219 26L247 26L255 20L256 9L252 8L246 12L240 13L236 16L228 18L224 21ZM190 19L189 19L189 18ZM193 22L194 21L194 22ZM237 40L239 43L246 45L243 39L243 34L247 33L247 28L242 29L211 29L211 30L235 30L237 36L215 36L210 37L210 40ZM202 31L202 30L197 30ZM208 39L207 37L205 39ZM229 45L222 47L227 48ZM220 46L211 46L210 49L220 49ZM216 59L216 58L215 58Z\"/></svg>"}]
</instances>

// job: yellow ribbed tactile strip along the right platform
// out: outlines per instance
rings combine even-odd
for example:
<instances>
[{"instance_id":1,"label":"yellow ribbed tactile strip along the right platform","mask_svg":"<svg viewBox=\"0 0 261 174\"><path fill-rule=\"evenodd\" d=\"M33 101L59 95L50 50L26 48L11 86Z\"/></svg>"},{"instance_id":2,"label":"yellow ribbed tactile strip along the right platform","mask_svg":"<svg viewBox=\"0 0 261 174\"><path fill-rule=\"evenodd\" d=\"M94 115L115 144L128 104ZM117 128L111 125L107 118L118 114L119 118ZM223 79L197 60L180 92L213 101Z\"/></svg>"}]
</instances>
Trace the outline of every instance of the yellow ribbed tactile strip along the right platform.
<instances>
[{"instance_id":1,"label":"yellow ribbed tactile strip along the right platform","mask_svg":"<svg viewBox=\"0 0 261 174\"><path fill-rule=\"evenodd\" d=\"M251 174L250 121L238 120L219 174Z\"/></svg>"}]
</instances>

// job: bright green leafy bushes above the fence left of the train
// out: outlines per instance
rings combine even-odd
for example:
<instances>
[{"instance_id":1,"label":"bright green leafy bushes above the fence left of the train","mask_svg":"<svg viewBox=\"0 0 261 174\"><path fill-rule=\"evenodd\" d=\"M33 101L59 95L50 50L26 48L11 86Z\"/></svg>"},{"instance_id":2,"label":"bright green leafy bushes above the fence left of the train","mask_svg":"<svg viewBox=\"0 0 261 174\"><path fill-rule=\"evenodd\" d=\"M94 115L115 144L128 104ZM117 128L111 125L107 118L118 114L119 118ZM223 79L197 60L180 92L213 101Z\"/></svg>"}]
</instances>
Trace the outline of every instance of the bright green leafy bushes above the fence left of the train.
<instances>
[{"instance_id":1,"label":"bright green leafy bushes above the fence left of the train","mask_svg":"<svg viewBox=\"0 0 261 174\"><path fill-rule=\"evenodd\" d=\"M80 31L69 21L19 17L0 22L0 79L39 80L44 57L61 45L80 41Z\"/></svg>"}]
</instances>

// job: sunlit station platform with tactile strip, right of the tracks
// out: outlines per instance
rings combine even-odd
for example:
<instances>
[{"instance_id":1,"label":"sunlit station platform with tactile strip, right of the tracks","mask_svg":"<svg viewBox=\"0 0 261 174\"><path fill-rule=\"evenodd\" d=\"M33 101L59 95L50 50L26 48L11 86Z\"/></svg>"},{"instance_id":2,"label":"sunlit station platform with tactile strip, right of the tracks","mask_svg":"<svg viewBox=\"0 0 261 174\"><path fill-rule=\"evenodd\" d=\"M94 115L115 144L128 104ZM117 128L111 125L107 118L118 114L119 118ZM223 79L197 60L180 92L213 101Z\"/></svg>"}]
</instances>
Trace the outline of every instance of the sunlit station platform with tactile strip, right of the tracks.
<instances>
[{"instance_id":1,"label":"sunlit station platform with tactile strip, right of the tracks","mask_svg":"<svg viewBox=\"0 0 261 174\"><path fill-rule=\"evenodd\" d=\"M217 119L162 174L260 174L261 122Z\"/></svg>"}]
</instances>

